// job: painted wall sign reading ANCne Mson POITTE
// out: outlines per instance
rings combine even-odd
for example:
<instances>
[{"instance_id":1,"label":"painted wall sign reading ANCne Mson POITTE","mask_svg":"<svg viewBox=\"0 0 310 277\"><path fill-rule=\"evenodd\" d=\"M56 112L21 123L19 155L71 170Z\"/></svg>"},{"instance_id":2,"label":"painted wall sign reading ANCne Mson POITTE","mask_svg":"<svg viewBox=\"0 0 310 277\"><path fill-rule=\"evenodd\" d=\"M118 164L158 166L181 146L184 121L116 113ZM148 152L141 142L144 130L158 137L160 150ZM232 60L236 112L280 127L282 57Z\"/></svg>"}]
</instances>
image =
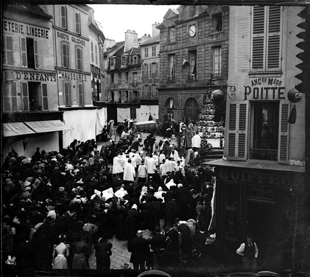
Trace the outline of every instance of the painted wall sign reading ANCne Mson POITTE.
<instances>
[{"instance_id":1,"label":"painted wall sign reading ANCne Mson POITTE","mask_svg":"<svg viewBox=\"0 0 310 277\"><path fill-rule=\"evenodd\" d=\"M251 85L244 85L244 100L283 100L285 86L277 78L261 77L251 80Z\"/></svg>"}]
</instances>

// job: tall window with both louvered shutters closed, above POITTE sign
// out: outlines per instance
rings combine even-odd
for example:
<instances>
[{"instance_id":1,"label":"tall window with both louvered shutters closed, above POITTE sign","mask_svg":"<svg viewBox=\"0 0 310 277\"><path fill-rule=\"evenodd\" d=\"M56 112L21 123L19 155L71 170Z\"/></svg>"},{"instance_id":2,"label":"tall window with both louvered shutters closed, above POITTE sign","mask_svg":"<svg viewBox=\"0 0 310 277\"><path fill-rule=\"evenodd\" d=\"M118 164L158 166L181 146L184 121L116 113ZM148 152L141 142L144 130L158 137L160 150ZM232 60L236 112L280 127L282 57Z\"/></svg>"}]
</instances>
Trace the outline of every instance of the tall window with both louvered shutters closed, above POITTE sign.
<instances>
[{"instance_id":1,"label":"tall window with both louvered shutters closed, above POITTE sign","mask_svg":"<svg viewBox=\"0 0 310 277\"><path fill-rule=\"evenodd\" d=\"M252 71L281 70L281 6L252 8Z\"/></svg>"}]
</instances>

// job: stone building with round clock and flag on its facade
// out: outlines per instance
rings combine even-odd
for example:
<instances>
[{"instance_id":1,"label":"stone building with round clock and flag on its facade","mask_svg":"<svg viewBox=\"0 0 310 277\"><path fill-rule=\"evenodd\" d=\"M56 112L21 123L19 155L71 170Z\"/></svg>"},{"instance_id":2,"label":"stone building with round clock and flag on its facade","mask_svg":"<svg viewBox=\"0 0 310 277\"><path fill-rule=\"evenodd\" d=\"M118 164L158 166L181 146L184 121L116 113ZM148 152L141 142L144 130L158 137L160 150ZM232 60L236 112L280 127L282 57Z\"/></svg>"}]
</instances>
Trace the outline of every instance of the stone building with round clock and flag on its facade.
<instances>
[{"instance_id":1,"label":"stone building with round clock and flag on its facade","mask_svg":"<svg viewBox=\"0 0 310 277\"><path fill-rule=\"evenodd\" d=\"M197 119L209 78L212 89L227 85L228 26L228 6L184 5L166 12L157 26L160 118Z\"/></svg>"}]
</instances>

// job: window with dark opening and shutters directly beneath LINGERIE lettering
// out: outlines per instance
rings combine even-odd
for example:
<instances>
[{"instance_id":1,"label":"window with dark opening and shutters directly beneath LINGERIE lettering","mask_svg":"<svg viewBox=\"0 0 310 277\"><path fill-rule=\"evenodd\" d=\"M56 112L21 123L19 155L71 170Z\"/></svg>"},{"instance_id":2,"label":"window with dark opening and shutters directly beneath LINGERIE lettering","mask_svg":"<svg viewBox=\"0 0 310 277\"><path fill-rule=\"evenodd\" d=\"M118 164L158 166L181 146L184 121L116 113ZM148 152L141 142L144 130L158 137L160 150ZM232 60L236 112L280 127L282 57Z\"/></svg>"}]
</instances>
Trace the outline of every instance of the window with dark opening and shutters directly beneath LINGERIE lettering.
<instances>
[{"instance_id":1,"label":"window with dark opening and shutters directly beneath LINGERIE lettering","mask_svg":"<svg viewBox=\"0 0 310 277\"><path fill-rule=\"evenodd\" d=\"M38 42L30 37L20 37L21 67L38 68Z\"/></svg>"}]
</instances>

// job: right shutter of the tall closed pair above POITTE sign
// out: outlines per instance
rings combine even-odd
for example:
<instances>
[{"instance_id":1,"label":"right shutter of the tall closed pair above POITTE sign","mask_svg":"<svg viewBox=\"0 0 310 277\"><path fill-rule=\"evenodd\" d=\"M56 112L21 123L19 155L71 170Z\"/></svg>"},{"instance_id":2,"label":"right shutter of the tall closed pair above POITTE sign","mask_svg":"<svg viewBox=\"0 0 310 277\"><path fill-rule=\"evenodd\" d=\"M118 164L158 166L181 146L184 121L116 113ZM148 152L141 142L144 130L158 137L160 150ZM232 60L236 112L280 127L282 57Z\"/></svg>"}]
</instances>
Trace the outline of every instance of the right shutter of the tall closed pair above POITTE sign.
<instances>
[{"instance_id":1,"label":"right shutter of the tall closed pair above POITTE sign","mask_svg":"<svg viewBox=\"0 0 310 277\"><path fill-rule=\"evenodd\" d=\"M281 7L269 6L268 14L268 52L267 68L277 70L280 67L280 29Z\"/></svg>"}]
</instances>

